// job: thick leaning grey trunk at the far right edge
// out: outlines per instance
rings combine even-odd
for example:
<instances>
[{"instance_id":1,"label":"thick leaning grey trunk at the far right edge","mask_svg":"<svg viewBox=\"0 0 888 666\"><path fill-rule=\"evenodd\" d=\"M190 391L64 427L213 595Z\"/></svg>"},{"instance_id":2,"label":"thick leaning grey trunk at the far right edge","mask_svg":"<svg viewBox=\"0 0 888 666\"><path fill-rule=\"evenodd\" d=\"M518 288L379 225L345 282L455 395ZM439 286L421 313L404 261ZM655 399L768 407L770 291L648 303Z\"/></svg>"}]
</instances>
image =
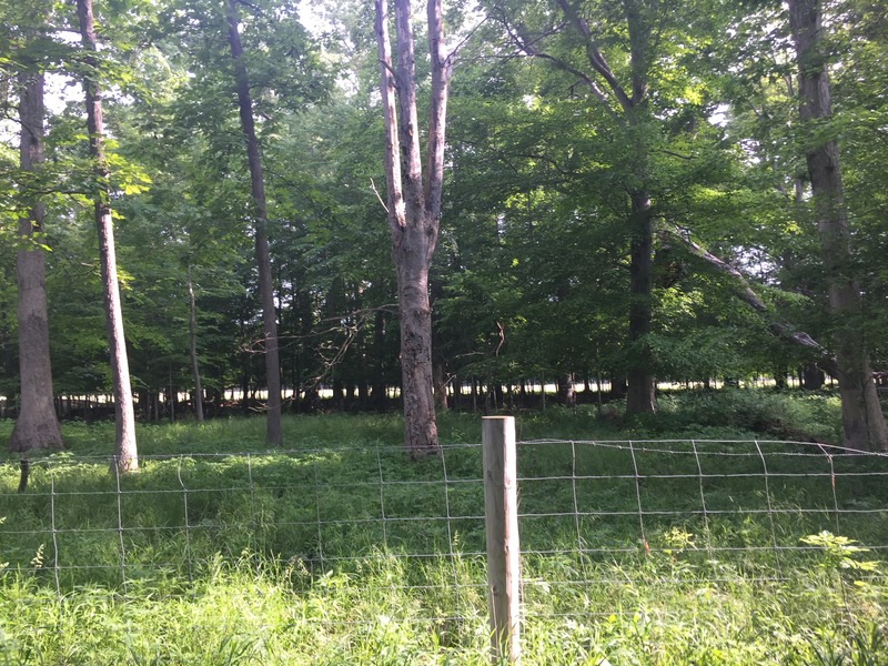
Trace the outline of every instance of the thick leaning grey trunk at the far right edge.
<instances>
[{"instance_id":1,"label":"thick leaning grey trunk at the far right edge","mask_svg":"<svg viewBox=\"0 0 888 666\"><path fill-rule=\"evenodd\" d=\"M789 0L788 4L799 68L799 117L810 127L831 117L829 77L821 52L821 6L819 0ZM888 427L872 382L866 341L860 326L851 321L860 311L860 290L850 266L850 226L836 141L818 141L807 149L806 160L827 276L829 312L835 322L833 340L838 365L835 376L841 395L845 445L888 451Z\"/></svg>"}]
</instances>

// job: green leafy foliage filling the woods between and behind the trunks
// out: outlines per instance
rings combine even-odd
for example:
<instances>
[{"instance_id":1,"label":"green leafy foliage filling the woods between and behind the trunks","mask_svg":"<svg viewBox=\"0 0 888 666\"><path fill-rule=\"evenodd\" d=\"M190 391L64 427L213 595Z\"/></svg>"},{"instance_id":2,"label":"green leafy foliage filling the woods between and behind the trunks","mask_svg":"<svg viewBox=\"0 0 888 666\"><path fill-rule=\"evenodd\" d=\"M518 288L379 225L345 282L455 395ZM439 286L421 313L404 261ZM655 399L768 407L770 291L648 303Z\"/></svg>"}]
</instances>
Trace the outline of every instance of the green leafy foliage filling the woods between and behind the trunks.
<instances>
[{"instance_id":1,"label":"green leafy foliage filling the woods between and behind the trunks","mask_svg":"<svg viewBox=\"0 0 888 666\"><path fill-rule=\"evenodd\" d=\"M564 4L576 7L595 28L595 47L615 77L632 78L625 7ZM664 382L781 380L797 374L810 355L776 340L775 323L805 331L827 347L841 323L825 315L801 159L811 137L794 121L795 91L787 84L793 53L783 9L706 0L680 9L655 0L633 4L649 37L638 54L647 101L637 127L624 122L612 97L601 99L579 75L589 75L599 90L604 85L588 70L588 43L559 3L482 2L477 17L463 3L447 8L448 30L461 51L430 290L435 363L452 387L452 402L463 408L470 390L475 405L493 396L488 406L500 406L509 394L513 406L542 406L549 396L527 391L529 383L571 375L577 384L609 382L613 395L598 394L596 401L619 398L638 345ZM9 37L0 40L8 115L20 65L52 72L57 90L82 67L78 47L58 33L30 40L39 28L34 7L21 2L0 10ZM208 412L262 410L260 307L245 232L249 184L223 3L164 0L97 9L104 44L100 73L114 138L124 319L142 417L190 411L184 398L193 384L189 272ZM67 8L52 11L52 26L70 26ZM400 383L400 331L384 210L374 192L382 186L383 165L372 17L366 3L326 3L330 22L312 33L300 11L306 13L289 1L244 6L242 34L268 175L289 406L391 410ZM826 11L828 54L837 62L836 113L818 131L840 139L854 223L849 261L864 299L850 323L864 331L874 367L882 370L888 186L880 168L886 162L881 91L888 40L876 8L842 0L827 3ZM468 23L475 18L473 31ZM538 38L533 43L551 59L517 48L521 31ZM418 64L424 75L427 65ZM421 77L418 85L427 84ZM0 393L8 406L18 386L12 230L17 202L33 189L44 193L48 206L41 242L50 250L56 392L109 391L95 236L82 198L90 183L81 111L63 99L56 102L39 182L26 182L17 172L16 128L3 121L1 134L0 235L8 242L0 243L6 266ZM639 180L652 196L656 233L652 327L633 346L626 317L633 241L627 193ZM744 305L738 282L688 252L688 240L740 271L769 311ZM234 400L224 393L232 389ZM665 418L642 420L639 430L660 433L697 423L783 438L831 441L836 434L831 406L820 414L813 410L804 426L790 426L787 421L798 420L781 410L798 405L781 405L780 397L719 396L709 408L683 406L684 415L675 413L673 397L663 397ZM700 404L707 400L700 397ZM619 403L603 411L613 416ZM674 426L664 425L669 420Z\"/></svg>"}]
</instances>

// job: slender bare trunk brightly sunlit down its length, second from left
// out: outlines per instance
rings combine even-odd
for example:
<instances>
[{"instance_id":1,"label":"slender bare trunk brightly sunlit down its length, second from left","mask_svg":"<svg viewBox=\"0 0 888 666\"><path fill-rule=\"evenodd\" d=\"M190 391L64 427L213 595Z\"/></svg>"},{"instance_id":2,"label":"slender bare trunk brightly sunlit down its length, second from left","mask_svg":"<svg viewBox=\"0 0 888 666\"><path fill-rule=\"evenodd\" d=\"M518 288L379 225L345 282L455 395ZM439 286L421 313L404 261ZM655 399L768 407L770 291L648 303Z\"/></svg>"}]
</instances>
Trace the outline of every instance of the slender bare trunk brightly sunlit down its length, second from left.
<instances>
[{"instance_id":1,"label":"slender bare trunk brightly sunlit down its length, second from left","mask_svg":"<svg viewBox=\"0 0 888 666\"><path fill-rule=\"evenodd\" d=\"M114 465L120 472L139 470L139 453L135 444L135 415L130 387L130 365L127 357L127 340L123 334L123 313L118 284L117 253L114 251L114 226L111 218L109 170L104 155L104 123L102 98L97 72L98 51L95 27L92 18L92 0L77 0L80 36L87 51L84 58L83 88L87 93L87 128L90 134L90 154L95 162L95 224L99 232L99 263L102 291L104 293L108 346L111 359L111 383L114 393Z\"/></svg>"}]
</instances>

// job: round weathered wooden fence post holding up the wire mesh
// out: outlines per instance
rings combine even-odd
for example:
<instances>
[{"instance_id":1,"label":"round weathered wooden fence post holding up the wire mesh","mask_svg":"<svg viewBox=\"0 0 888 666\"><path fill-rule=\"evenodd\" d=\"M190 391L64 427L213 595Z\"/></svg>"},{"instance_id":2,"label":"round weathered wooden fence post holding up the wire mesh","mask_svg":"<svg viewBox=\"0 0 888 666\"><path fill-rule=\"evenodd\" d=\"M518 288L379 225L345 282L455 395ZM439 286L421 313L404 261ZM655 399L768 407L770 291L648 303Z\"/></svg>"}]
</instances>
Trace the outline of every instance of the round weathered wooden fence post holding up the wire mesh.
<instances>
[{"instance_id":1,"label":"round weathered wooden fence post holding up the wire mesh","mask_svg":"<svg viewBox=\"0 0 888 666\"><path fill-rule=\"evenodd\" d=\"M521 635L518 591L518 483L515 455L515 418L485 416L484 516L487 533L487 607L491 614L494 663L518 664Z\"/></svg>"}]
</instances>

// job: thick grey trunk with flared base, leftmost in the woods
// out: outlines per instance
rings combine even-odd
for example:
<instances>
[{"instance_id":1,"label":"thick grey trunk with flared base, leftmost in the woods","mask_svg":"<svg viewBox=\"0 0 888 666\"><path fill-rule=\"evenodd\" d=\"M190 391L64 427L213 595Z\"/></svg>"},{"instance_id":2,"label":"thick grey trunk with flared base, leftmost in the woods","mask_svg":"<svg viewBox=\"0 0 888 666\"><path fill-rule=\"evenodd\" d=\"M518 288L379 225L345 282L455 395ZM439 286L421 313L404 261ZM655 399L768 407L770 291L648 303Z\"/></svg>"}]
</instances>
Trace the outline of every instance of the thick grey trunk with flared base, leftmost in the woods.
<instances>
[{"instance_id":1,"label":"thick grey trunk with flared base, leftmost in the woods","mask_svg":"<svg viewBox=\"0 0 888 666\"><path fill-rule=\"evenodd\" d=\"M43 161L43 74L19 77L21 121L20 165L23 174L39 170ZM33 198L28 216L19 221L19 236L30 243L43 231L43 204ZM10 451L62 448L62 435L52 400L52 369L49 356L46 263L43 250L34 244L21 248L16 263L18 281L19 416L9 438ZM27 477L22 475L23 482Z\"/></svg>"}]
</instances>

